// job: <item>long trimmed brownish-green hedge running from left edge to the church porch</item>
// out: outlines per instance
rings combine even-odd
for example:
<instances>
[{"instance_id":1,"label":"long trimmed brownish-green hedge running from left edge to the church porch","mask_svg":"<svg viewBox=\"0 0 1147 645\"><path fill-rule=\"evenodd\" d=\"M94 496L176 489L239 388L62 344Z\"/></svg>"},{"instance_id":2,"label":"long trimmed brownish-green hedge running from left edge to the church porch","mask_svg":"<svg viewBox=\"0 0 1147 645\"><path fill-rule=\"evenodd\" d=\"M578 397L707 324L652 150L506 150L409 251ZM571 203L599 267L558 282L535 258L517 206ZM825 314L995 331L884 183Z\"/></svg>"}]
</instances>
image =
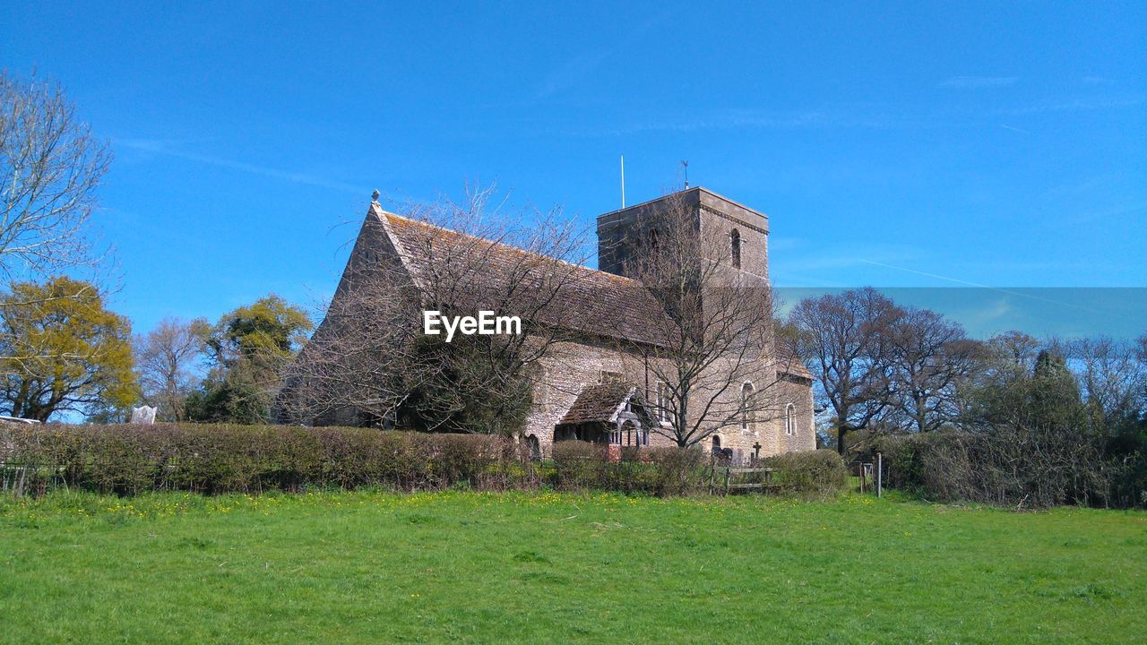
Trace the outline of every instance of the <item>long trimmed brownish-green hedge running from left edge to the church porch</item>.
<instances>
[{"instance_id":1,"label":"long trimmed brownish-green hedge running from left edge to the church porch","mask_svg":"<svg viewBox=\"0 0 1147 645\"><path fill-rule=\"evenodd\" d=\"M502 437L365 428L5 425L0 460L8 464L6 477L33 492L57 485L133 495L539 483L538 471Z\"/></svg>"}]
</instances>

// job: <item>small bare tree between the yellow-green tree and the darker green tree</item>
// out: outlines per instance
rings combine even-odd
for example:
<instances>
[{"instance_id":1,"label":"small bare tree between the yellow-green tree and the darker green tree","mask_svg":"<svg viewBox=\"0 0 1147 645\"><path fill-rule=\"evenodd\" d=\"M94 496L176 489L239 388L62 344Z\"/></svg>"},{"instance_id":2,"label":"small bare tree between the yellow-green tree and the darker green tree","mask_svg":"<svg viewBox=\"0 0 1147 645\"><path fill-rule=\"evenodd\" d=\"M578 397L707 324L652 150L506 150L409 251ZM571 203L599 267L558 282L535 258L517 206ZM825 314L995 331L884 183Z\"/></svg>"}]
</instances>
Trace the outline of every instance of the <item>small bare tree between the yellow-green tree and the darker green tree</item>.
<instances>
[{"instance_id":1,"label":"small bare tree between the yellow-green tree and the darker green tree","mask_svg":"<svg viewBox=\"0 0 1147 645\"><path fill-rule=\"evenodd\" d=\"M159 409L159 418L184 421L185 402L195 386L203 357L204 319L164 318L147 334L133 339L135 371L143 399Z\"/></svg>"}]
</instances>

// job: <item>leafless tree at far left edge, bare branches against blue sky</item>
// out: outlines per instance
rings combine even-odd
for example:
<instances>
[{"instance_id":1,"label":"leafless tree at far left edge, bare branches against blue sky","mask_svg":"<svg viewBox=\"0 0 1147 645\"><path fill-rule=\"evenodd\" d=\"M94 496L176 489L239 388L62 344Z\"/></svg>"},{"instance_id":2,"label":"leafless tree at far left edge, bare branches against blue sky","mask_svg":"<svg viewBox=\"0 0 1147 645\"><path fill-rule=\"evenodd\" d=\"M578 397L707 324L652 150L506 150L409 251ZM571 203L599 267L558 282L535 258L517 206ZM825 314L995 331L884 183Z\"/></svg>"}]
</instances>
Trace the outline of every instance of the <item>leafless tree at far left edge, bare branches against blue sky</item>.
<instances>
[{"instance_id":1,"label":"leafless tree at far left edge, bare branches against blue sky","mask_svg":"<svg viewBox=\"0 0 1147 645\"><path fill-rule=\"evenodd\" d=\"M58 85L0 71L0 271L6 278L93 261L85 235L111 162Z\"/></svg>"}]
</instances>

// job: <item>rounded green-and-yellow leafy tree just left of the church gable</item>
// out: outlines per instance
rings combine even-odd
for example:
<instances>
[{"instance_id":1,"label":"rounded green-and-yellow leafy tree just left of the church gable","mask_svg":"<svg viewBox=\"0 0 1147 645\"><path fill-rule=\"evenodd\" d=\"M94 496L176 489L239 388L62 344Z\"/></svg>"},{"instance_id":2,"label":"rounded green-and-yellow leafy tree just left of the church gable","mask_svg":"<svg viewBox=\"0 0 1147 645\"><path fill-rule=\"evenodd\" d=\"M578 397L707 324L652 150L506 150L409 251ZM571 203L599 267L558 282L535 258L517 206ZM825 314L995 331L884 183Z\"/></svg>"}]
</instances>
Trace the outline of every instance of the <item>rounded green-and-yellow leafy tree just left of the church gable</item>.
<instances>
[{"instance_id":1,"label":"rounded green-and-yellow leafy tree just left of the church gable","mask_svg":"<svg viewBox=\"0 0 1147 645\"><path fill-rule=\"evenodd\" d=\"M282 384L281 374L314 328L302 308L274 294L241 306L203 333L212 370L187 399L195 421L260 423Z\"/></svg>"}]
</instances>

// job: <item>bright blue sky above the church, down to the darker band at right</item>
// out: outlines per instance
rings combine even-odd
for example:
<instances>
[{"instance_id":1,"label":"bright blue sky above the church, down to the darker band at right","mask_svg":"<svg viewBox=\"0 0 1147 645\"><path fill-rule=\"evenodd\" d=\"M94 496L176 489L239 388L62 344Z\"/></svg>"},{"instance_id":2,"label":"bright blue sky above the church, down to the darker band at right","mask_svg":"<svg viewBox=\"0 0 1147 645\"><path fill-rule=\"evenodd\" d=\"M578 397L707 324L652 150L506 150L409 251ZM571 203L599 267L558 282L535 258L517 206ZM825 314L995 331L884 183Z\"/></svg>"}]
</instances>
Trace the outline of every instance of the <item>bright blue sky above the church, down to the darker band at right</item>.
<instances>
[{"instance_id":1,"label":"bright blue sky above the church, down to the darker band at right","mask_svg":"<svg viewBox=\"0 0 1147 645\"><path fill-rule=\"evenodd\" d=\"M112 141L136 331L329 294L374 188L591 222L619 154L768 213L782 287L1147 286L1147 3L185 5L0 7Z\"/></svg>"}]
</instances>

